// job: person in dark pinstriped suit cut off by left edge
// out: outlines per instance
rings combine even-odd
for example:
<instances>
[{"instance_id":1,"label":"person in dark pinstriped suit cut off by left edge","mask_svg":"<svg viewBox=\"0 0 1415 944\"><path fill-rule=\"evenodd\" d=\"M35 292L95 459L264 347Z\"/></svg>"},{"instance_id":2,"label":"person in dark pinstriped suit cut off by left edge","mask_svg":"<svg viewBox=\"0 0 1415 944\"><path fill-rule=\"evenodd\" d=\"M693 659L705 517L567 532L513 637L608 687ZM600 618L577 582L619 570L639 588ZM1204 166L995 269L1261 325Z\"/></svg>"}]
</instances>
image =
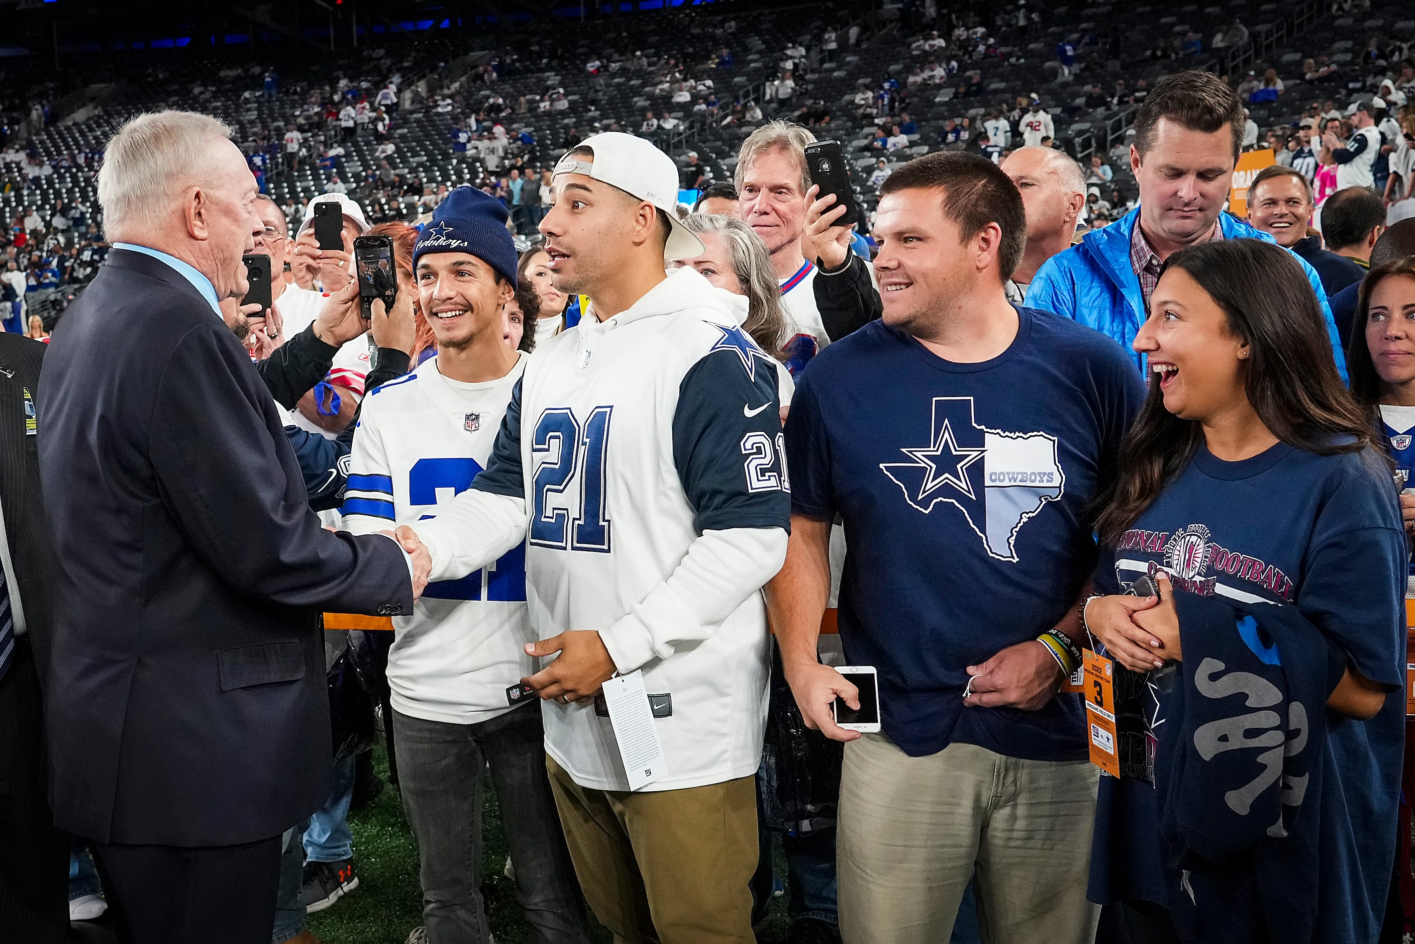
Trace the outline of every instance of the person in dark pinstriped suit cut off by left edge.
<instances>
[{"instance_id":1,"label":"person in dark pinstriped suit cut off by left edge","mask_svg":"<svg viewBox=\"0 0 1415 944\"><path fill-rule=\"evenodd\" d=\"M61 944L69 927L69 839L45 795L52 558L34 422L44 350L0 334L0 938L25 944Z\"/></svg>"}]
</instances>

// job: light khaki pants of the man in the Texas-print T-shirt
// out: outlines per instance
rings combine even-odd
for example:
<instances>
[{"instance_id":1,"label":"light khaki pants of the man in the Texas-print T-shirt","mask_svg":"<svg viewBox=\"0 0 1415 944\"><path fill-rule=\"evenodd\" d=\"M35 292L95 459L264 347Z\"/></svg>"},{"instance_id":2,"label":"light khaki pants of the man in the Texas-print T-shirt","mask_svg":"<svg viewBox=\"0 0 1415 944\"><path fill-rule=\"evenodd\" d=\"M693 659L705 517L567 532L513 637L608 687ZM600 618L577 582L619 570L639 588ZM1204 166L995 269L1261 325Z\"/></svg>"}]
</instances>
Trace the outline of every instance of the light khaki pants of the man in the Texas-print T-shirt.
<instances>
[{"instance_id":1,"label":"light khaki pants of the man in the Texas-print T-shirt","mask_svg":"<svg viewBox=\"0 0 1415 944\"><path fill-rule=\"evenodd\" d=\"M1090 944L1098 771L949 744L845 746L836 846L845 944L947 941L971 879L985 944Z\"/></svg>"}]
</instances>

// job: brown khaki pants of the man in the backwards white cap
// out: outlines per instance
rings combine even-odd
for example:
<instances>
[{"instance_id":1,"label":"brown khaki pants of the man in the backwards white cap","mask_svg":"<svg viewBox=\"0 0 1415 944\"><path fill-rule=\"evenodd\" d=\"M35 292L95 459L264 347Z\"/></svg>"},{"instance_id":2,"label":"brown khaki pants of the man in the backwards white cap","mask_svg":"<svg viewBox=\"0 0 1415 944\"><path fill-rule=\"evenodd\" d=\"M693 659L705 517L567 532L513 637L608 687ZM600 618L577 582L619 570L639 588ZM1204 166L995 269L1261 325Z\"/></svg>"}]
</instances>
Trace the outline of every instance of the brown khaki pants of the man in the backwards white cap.
<instances>
[{"instance_id":1,"label":"brown khaki pants of the man in the backwards white cap","mask_svg":"<svg viewBox=\"0 0 1415 944\"><path fill-rule=\"evenodd\" d=\"M756 777L627 793L545 766L574 873L616 944L753 944Z\"/></svg>"}]
</instances>

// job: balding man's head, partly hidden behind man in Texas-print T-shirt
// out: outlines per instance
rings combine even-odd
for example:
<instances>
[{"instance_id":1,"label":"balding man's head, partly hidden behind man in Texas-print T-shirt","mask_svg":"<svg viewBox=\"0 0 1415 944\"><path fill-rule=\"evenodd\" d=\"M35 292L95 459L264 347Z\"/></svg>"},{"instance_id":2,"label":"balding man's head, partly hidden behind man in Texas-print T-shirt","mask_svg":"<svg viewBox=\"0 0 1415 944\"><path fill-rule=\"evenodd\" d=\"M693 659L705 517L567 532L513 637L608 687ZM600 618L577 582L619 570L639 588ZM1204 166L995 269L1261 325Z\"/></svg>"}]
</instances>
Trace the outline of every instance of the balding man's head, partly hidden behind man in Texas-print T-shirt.
<instances>
[{"instance_id":1,"label":"balding man's head, partly hidden behind man in Texas-print T-shirt","mask_svg":"<svg viewBox=\"0 0 1415 944\"><path fill-rule=\"evenodd\" d=\"M1085 205L1085 177L1074 159L1051 147L1019 147L1002 161L1002 173L1022 191L1027 211L1027 248L1012 275L1026 296L1041 263L1071 246Z\"/></svg>"}]
</instances>

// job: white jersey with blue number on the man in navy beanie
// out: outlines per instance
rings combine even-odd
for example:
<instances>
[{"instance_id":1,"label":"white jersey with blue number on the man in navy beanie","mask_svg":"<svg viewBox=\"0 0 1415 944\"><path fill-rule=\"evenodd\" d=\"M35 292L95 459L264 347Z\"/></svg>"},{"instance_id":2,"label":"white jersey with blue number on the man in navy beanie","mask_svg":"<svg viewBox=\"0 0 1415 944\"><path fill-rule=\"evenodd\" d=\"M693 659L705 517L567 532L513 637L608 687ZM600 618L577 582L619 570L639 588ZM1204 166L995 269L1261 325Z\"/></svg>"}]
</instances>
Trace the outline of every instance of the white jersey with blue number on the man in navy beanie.
<instances>
[{"instance_id":1,"label":"white jersey with blue number on the man in navy beanie","mask_svg":"<svg viewBox=\"0 0 1415 944\"><path fill-rule=\"evenodd\" d=\"M424 521L471 485L526 359L499 381L461 384L434 357L375 389L354 433L344 526L371 534ZM535 640L525 600L522 545L460 580L429 583L412 616L393 617L393 708L449 725L507 712L507 688L536 671L524 650Z\"/></svg>"}]
</instances>

